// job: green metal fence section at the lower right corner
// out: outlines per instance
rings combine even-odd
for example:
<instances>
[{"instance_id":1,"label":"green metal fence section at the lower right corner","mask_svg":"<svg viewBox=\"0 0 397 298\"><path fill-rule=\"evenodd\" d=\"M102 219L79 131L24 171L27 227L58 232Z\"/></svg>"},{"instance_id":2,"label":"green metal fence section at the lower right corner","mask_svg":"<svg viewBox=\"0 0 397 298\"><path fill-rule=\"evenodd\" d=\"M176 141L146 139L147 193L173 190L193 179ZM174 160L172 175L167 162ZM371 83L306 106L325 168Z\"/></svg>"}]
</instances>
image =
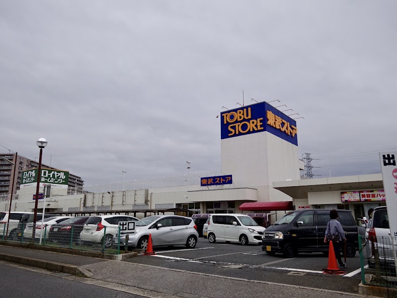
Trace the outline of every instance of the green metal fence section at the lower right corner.
<instances>
[{"instance_id":1,"label":"green metal fence section at the lower right corner","mask_svg":"<svg viewBox=\"0 0 397 298\"><path fill-rule=\"evenodd\" d=\"M397 237L359 236L363 285L397 288Z\"/></svg>"}]
</instances>

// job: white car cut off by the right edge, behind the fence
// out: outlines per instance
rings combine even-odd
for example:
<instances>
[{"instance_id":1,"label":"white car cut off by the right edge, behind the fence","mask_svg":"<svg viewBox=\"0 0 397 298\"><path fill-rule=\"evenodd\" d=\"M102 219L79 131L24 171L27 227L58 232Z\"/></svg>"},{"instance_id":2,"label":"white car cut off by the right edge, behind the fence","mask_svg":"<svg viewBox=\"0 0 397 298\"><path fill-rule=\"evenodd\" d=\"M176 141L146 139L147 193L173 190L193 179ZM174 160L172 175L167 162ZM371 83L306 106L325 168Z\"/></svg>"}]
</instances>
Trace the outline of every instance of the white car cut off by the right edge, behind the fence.
<instances>
[{"instance_id":1,"label":"white car cut off by the right edge, behind the fence","mask_svg":"<svg viewBox=\"0 0 397 298\"><path fill-rule=\"evenodd\" d=\"M391 237L386 206L374 209L372 219L368 224L366 238L369 240L369 243L366 244L367 257L369 257L368 267L376 268L375 255L378 255L382 272L396 275L393 247L397 250L397 237Z\"/></svg>"}]
</instances>

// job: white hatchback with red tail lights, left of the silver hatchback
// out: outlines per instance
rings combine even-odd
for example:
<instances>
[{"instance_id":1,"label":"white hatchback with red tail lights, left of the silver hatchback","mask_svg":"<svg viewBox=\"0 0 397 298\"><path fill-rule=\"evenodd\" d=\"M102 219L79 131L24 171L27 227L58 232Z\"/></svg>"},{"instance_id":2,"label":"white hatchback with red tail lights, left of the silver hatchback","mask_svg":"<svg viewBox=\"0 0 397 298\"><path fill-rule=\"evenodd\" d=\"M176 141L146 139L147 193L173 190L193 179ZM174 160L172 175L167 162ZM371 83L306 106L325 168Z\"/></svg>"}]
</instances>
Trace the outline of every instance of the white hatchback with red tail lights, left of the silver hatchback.
<instances>
[{"instance_id":1,"label":"white hatchback with red tail lights, left of the silver hatchback","mask_svg":"<svg viewBox=\"0 0 397 298\"><path fill-rule=\"evenodd\" d=\"M113 237L118 235L119 222L136 221L138 221L137 218L128 215L91 216L80 232L80 239L88 243L102 243L105 240L105 247L109 247L112 245Z\"/></svg>"}]
</instances>

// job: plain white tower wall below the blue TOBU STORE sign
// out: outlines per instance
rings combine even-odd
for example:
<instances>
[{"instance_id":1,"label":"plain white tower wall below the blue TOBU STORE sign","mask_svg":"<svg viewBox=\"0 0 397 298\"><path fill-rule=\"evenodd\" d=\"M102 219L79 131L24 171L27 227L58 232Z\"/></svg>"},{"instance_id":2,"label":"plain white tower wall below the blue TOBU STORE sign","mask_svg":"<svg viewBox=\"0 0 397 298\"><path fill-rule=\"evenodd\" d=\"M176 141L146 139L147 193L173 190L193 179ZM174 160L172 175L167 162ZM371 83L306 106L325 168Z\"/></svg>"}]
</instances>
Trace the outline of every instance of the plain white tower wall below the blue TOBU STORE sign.
<instances>
[{"instance_id":1,"label":"plain white tower wall below the blue TOBU STORE sign","mask_svg":"<svg viewBox=\"0 0 397 298\"><path fill-rule=\"evenodd\" d=\"M258 189L258 201L291 201L273 181L299 180L298 147L268 132L221 140L222 174L236 187Z\"/></svg>"}]
</instances>

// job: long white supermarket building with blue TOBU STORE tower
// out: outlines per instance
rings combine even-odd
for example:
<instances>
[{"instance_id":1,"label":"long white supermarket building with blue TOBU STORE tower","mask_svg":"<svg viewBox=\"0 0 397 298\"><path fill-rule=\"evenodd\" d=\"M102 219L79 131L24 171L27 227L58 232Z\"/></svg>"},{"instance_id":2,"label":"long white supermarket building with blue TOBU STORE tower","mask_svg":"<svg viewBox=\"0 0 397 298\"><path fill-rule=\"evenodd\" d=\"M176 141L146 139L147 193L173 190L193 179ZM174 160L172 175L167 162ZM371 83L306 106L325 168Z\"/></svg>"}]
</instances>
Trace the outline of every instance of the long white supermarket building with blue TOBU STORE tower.
<instances>
[{"instance_id":1,"label":"long white supermarket building with blue TOBU STORE tower","mask_svg":"<svg viewBox=\"0 0 397 298\"><path fill-rule=\"evenodd\" d=\"M219 118L221 175L200 177L197 185L75 195L57 189L57 195L50 193L46 199L47 210L133 213L141 218L152 214L150 211L175 208L189 209L189 215L339 208L350 209L360 218L369 208L385 204L381 174L300 179L303 161L298 156L296 121L272 105L243 106L224 111ZM11 210L32 211L35 191L33 185L24 187ZM43 205L39 200L39 209ZM8 202L1 202L0 210L8 210Z\"/></svg>"}]
</instances>

